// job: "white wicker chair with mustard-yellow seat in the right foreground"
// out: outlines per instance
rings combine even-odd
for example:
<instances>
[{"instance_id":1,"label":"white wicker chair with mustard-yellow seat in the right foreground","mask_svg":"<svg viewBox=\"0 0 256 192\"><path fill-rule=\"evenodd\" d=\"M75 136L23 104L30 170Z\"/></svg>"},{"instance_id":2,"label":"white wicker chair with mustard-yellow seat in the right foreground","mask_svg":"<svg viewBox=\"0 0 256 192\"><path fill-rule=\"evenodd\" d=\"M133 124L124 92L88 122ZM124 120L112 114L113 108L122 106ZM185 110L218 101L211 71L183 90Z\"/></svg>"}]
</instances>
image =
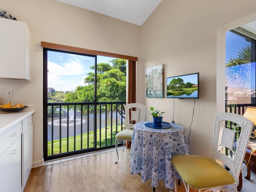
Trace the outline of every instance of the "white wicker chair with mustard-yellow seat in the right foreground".
<instances>
[{"instance_id":1,"label":"white wicker chair with mustard-yellow seat in the right foreground","mask_svg":"<svg viewBox=\"0 0 256 192\"><path fill-rule=\"evenodd\" d=\"M226 128L226 124L229 123L234 125L232 129ZM172 165L181 176L186 191L189 192L189 188L192 187L199 192L201 190L225 192L225 186L231 185L232 192L237 192L237 182L253 125L252 121L238 114L216 114L211 158L196 155L173 156ZM239 138L238 132L240 132ZM236 149L233 147L235 141L237 141ZM225 153L225 148L228 149L228 155ZM232 174L216 160L226 165ZM174 188L176 192L175 176Z\"/></svg>"}]
</instances>

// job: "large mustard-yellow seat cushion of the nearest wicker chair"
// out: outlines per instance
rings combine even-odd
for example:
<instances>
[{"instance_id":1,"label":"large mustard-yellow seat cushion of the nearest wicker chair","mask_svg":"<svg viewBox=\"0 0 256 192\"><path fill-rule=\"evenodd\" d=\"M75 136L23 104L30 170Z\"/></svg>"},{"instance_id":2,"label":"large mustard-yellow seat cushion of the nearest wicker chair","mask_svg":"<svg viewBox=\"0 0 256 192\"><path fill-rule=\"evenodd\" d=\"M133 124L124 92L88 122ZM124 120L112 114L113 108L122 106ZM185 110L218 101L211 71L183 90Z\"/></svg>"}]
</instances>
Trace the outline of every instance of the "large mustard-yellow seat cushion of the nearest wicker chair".
<instances>
[{"instance_id":1,"label":"large mustard-yellow seat cushion of the nearest wicker chair","mask_svg":"<svg viewBox=\"0 0 256 192\"><path fill-rule=\"evenodd\" d=\"M172 164L184 182L196 189L224 186L235 182L232 174L211 158L176 155Z\"/></svg>"}]
</instances>

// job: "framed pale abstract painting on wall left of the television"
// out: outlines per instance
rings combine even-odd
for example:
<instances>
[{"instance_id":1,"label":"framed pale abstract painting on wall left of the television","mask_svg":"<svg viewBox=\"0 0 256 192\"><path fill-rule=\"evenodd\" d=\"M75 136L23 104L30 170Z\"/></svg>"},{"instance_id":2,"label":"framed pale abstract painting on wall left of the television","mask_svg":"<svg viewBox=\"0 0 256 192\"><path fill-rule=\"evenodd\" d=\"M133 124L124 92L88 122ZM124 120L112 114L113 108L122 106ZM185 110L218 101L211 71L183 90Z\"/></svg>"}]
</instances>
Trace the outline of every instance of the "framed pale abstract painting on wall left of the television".
<instances>
[{"instance_id":1,"label":"framed pale abstract painting on wall left of the television","mask_svg":"<svg viewBox=\"0 0 256 192\"><path fill-rule=\"evenodd\" d=\"M146 68L146 97L164 98L164 64Z\"/></svg>"}]
</instances>

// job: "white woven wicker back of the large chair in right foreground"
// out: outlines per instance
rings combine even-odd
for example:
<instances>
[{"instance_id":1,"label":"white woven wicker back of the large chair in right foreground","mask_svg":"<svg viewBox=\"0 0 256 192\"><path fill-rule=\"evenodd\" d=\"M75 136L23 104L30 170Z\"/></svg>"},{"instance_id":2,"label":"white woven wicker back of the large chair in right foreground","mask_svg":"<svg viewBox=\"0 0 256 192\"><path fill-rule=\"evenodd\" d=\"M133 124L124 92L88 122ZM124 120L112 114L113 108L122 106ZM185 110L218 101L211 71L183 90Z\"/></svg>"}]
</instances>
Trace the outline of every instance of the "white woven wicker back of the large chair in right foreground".
<instances>
[{"instance_id":1,"label":"white woven wicker back of the large chair in right foreground","mask_svg":"<svg viewBox=\"0 0 256 192\"><path fill-rule=\"evenodd\" d=\"M231 170L236 182L253 126L252 121L238 114L220 113L215 115L212 158L225 164ZM236 148L234 142L236 142Z\"/></svg>"}]
</instances>

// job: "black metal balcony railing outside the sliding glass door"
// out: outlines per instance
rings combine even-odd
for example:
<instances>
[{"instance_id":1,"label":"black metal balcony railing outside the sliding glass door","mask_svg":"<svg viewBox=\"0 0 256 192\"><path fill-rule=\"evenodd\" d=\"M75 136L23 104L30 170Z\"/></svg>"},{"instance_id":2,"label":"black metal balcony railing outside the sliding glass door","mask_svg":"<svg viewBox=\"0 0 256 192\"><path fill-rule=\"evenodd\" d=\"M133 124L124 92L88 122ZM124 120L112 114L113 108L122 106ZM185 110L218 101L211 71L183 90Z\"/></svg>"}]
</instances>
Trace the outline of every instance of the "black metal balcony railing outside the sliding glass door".
<instances>
[{"instance_id":1,"label":"black metal balcony railing outside the sliding glass door","mask_svg":"<svg viewBox=\"0 0 256 192\"><path fill-rule=\"evenodd\" d=\"M48 103L45 160L112 148L126 102ZM46 136L47 135L47 136ZM46 151L46 150L44 150ZM44 156L45 157L45 156Z\"/></svg>"}]
</instances>

